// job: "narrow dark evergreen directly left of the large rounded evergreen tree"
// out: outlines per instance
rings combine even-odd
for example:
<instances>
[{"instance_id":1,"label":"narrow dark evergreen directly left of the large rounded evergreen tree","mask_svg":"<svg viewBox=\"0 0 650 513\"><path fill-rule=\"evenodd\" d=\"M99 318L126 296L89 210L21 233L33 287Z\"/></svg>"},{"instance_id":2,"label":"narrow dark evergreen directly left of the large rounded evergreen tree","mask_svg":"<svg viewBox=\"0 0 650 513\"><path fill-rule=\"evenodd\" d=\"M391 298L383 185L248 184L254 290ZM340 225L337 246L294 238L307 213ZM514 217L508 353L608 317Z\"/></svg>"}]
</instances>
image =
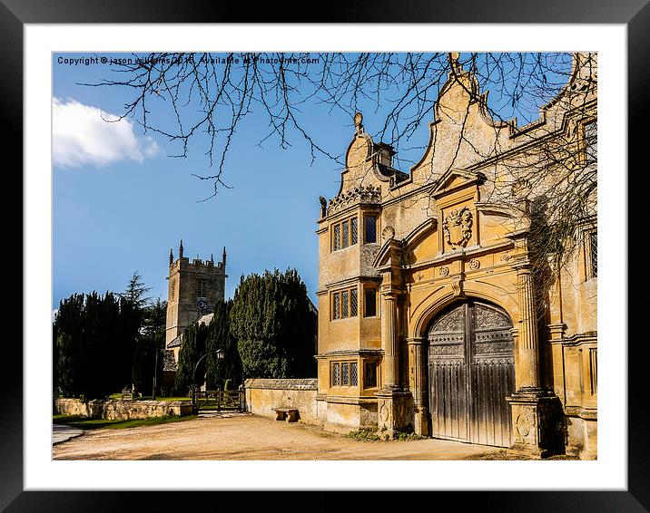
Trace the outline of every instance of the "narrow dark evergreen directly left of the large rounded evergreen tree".
<instances>
[{"instance_id":1,"label":"narrow dark evergreen directly left of the large rounded evergreen tree","mask_svg":"<svg viewBox=\"0 0 650 513\"><path fill-rule=\"evenodd\" d=\"M205 341L206 370L205 383L208 390L222 388L226 380L233 385L241 383L241 359L237 344L230 333L230 318L232 300L219 301L214 307L214 316L208 324ZM215 352L223 351L222 360L218 360Z\"/></svg>"}]
</instances>

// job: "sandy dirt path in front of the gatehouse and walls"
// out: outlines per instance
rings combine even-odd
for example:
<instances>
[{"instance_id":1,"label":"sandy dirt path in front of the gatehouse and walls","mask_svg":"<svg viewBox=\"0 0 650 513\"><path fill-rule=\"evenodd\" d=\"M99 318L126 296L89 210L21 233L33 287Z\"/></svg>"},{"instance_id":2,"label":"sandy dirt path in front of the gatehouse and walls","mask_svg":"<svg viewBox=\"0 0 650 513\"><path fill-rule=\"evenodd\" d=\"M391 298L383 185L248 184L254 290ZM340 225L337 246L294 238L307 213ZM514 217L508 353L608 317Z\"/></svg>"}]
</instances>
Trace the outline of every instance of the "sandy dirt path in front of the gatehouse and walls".
<instances>
[{"instance_id":1,"label":"sandy dirt path in front of the gatehouse and walls","mask_svg":"<svg viewBox=\"0 0 650 513\"><path fill-rule=\"evenodd\" d=\"M446 440L362 442L247 414L86 431L54 460L462 460L495 448Z\"/></svg>"}]
</instances>

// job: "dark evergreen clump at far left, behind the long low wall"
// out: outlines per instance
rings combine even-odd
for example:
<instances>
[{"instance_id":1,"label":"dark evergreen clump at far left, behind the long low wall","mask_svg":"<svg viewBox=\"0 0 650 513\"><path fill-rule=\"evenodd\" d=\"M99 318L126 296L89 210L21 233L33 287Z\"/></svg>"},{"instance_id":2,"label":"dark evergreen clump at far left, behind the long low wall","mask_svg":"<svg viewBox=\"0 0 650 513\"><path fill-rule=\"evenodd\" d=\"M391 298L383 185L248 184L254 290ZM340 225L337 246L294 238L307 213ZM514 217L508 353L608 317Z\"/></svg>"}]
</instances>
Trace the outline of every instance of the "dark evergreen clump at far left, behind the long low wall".
<instances>
[{"instance_id":1,"label":"dark evergreen clump at far left, behind the long low wall","mask_svg":"<svg viewBox=\"0 0 650 513\"><path fill-rule=\"evenodd\" d=\"M123 294L74 294L61 301L53 325L54 388L94 399L134 381L151 383L164 306L159 300L145 307L147 290L136 272Z\"/></svg>"}]
</instances>

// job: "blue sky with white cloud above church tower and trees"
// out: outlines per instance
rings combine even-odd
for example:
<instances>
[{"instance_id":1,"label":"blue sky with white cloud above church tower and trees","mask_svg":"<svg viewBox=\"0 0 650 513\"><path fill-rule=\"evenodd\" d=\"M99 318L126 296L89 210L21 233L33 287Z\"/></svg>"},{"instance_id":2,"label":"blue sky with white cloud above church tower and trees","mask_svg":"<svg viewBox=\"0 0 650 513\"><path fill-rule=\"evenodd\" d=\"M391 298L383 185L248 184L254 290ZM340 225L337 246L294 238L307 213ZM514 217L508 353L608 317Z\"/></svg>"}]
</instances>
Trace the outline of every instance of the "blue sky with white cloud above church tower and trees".
<instances>
[{"instance_id":1,"label":"blue sky with white cloud above church tower and trees","mask_svg":"<svg viewBox=\"0 0 650 513\"><path fill-rule=\"evenodd\" d=\"M231 189L201 201L212 192L211 182L192 176L211 172L202 136L187 158L177 159L169 155L178 148L161 135L145 134L133 121L101 121L100 111L105 118L120 114L131 97L115 87L80 85L101 81L110 66L59 63L62 56L92 55L53 55L53 308L74 293L123 291L135 271L152 287L150 296L166 299L169 250L178 257L181 238L188 257L213 254L216 261L226 247L228 297L242 275L295 267L316 302L318 198L338 192L336 162L318 157L312 164L297 133L290 133L289 150L272 139L260 147L267 122L253 111L228 153L224 181ZM360 107L366 131L375 135L385 111L374 112L369 102ZM337 155L347 149L350 114L318 104L304 105L302 113L319 144ZM172 121L169 111L153 115L162 124ZM409 146L427 140L421 126ZM400 154L418 160L421 150Z\"/></svg>"}]
</instances>

